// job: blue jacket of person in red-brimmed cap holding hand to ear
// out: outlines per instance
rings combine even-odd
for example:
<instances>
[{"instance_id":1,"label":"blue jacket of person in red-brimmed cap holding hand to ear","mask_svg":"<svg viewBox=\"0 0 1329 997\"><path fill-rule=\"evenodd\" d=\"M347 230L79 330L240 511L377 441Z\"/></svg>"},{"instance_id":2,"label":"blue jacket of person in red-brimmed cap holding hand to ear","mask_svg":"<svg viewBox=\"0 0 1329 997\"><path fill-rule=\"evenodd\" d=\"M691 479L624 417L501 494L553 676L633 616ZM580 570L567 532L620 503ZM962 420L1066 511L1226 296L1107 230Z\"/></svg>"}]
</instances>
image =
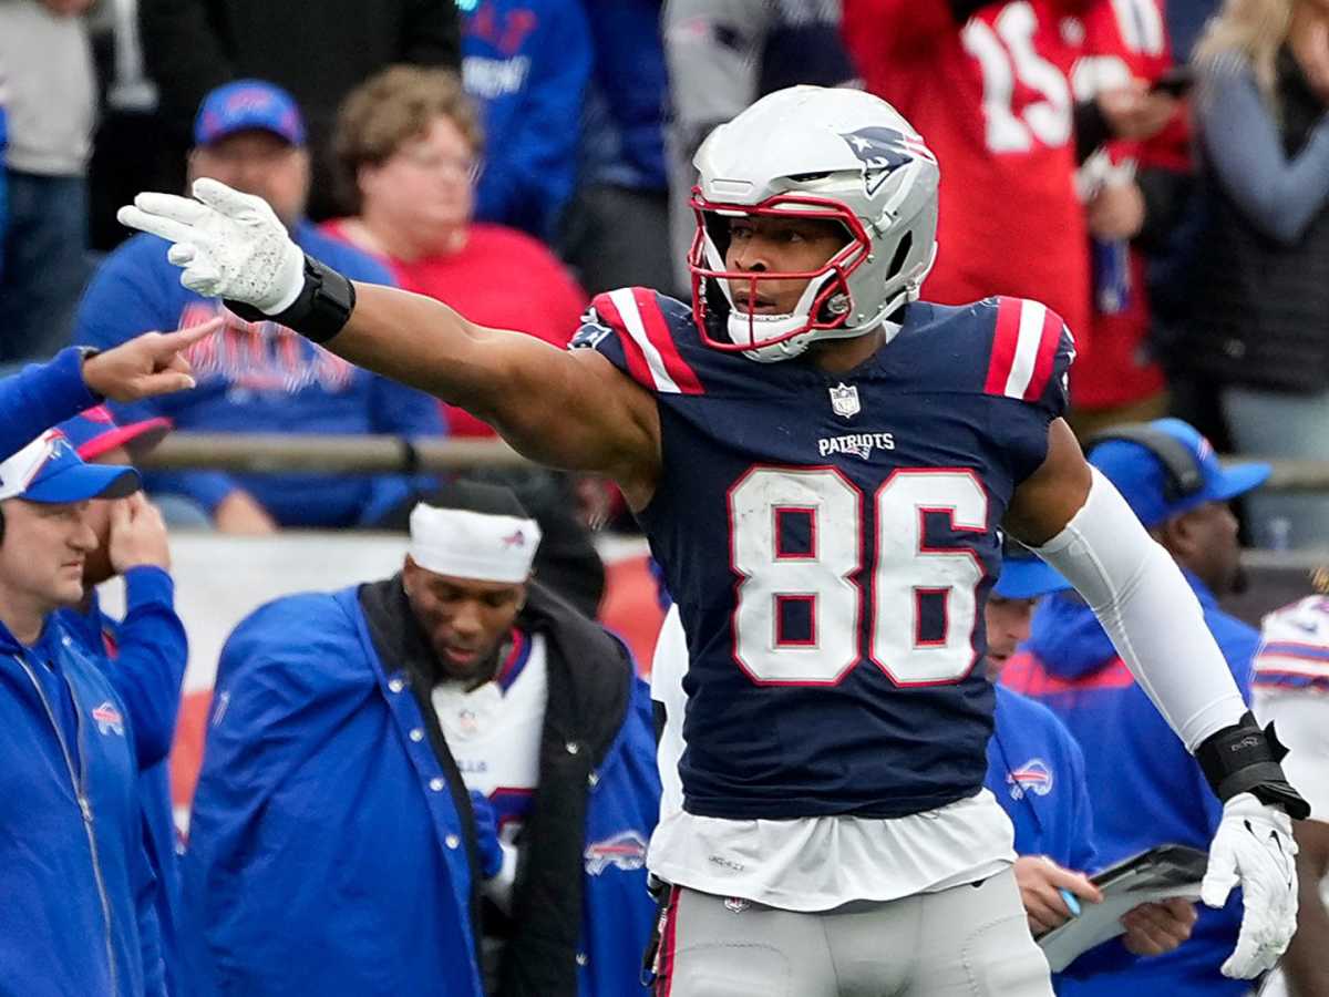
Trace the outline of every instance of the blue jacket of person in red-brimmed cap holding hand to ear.
<instances>
[{"instance_id":1,"label":"blue jacket of person in red-brimmed cap holding hand to ear","mask_svg":"<svg viewBox=\"0 0 1329 997\"><path fill-rule=\"evenodd\" d=\"M65 609L57 615L116 687L133 726L144 848L157 879L154 909L166 992L186 994L183 899L167 756L189 639L175 614L174 592L175 584L161 568L130 568L125 572L124 621L101 611L96 592L86 613Z\"/></svg>"}]
</instances>

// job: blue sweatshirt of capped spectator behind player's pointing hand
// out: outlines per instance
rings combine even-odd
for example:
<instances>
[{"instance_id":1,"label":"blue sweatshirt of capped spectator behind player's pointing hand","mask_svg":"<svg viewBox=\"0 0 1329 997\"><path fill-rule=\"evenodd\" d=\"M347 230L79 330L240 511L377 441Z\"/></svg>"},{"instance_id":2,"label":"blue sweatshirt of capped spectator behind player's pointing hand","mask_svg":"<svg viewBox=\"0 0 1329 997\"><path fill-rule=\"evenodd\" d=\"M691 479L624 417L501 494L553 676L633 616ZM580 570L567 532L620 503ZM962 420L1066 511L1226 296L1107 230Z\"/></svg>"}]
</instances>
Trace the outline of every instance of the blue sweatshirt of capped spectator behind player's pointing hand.
<instances>
[{"instance_id":1,"label":"blue sweatshirt of capped spectator behind player's pointing hand","mask_svg":"<svg viewBox=\"0 0 1329 997\"><path fill-rule=\"evenodd\" d=\"M302 222L292 237L310 255L355 280L391 284L377 261ZM179 283L166 261L167 243L136 235L93 277L74 326L80 343L108 350L148 330L197 326L219 314ZM439 436L443 416L428 395L395 384L334 356L275 323L262 336L231 324L190 352L198 387L130 405L113 405L121 425L170 417L194 432L392 433ZM211 513L237 488L253 495L286 526L372 524L403 501L411 481L401 475L227 475L221 471L152 473L152 492L174 492Z\"/></svg>"}]
</instances>

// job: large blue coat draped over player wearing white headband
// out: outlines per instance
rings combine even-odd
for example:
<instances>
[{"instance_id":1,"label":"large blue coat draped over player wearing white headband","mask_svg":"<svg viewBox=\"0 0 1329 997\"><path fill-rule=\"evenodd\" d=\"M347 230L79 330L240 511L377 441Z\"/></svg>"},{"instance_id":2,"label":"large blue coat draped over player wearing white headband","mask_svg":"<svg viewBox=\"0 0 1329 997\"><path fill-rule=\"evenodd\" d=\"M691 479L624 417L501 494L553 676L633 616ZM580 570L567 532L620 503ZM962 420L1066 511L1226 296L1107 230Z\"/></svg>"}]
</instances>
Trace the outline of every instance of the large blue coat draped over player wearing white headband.
<instances>
[{"instance_id":1,"label":"large blue coat draped over player wearing white headband","mask_svg":"<svg viewBox=\"0 0 1329 997\"><path fill-rule=\"evenodd\" d=\"M646 993L659 783L633 683L587 794L582 997ZM469 828L427 726L405 673L379 658L356 588L278 600L231 634L185 857L218 994L482 997ZM642 855L621 864L625 835Z\"/></svg>"}]
</instances>

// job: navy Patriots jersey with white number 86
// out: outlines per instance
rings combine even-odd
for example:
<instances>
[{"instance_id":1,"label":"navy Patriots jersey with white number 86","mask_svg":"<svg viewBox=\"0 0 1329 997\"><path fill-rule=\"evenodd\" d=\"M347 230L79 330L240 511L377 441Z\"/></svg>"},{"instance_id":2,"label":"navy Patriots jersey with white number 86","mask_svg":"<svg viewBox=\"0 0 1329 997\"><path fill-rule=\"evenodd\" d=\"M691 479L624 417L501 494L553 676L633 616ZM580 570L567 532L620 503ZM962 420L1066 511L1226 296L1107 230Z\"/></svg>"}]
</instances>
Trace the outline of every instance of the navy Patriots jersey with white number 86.
<instances>
[{"instance_id":1,"label":"navy Patriots jersey with white number 86","mask_svg":"<svg viewBox=\"0 0 1329 997\"><path fill-rule=\"evenodd\" d=\"M1061 318L910 304L832 375L711 350L686 304L631 288L595 298L573 347L659 405L638 518L687 631L684 808L896 818L978 792L982 606L997 525L1066 405Z\"/></svg>"}]
</instances>

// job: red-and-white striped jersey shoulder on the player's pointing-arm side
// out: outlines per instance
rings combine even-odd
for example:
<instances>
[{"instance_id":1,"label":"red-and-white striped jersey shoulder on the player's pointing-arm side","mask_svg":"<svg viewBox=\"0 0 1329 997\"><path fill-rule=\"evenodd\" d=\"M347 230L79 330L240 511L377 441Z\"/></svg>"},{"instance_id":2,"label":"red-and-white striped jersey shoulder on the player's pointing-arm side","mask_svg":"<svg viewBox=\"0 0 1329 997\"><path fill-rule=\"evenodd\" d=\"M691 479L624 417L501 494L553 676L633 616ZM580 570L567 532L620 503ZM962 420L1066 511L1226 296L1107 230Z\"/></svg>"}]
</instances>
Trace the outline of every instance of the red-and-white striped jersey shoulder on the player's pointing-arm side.
<instances>
[{"instance_id":1,"label":"red-and-white striped jersey shoulder on the player's pointing-arm side","mask_svg":"<svg viewBox=\"0 0 1329 997\"><path fill-rule=\"evenodd\" d=\"M662 395L703 395L702 382L683 359L659 295L649 287L622 287L597 294L573 350L597 350L613 332L627 374L649 391Z\"/></svg>"}]
</instances>

